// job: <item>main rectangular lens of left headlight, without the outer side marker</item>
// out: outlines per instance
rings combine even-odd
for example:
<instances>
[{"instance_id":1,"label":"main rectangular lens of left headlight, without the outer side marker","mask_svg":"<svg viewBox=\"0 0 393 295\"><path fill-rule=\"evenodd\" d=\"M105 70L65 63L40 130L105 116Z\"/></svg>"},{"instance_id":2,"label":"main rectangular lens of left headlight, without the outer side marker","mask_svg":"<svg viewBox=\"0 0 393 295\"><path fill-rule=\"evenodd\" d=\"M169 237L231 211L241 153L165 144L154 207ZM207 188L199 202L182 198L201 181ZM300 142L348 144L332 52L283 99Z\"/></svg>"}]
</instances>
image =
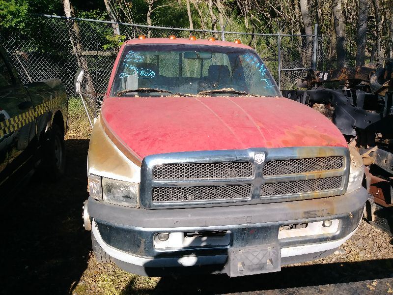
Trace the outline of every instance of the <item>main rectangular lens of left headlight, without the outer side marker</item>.
<instances>
[{"instance_id":1,"label":"main rectangular lens of left headlight, without the outer side marker","mask_svg":"<svg viewBox=\"0 0 393 295\"><path fill-rule=\"evenodd\" d=\"M107 203L136 208L138 207L139 184L103 177L102 195Z\"/></svg>"}]
</instances>

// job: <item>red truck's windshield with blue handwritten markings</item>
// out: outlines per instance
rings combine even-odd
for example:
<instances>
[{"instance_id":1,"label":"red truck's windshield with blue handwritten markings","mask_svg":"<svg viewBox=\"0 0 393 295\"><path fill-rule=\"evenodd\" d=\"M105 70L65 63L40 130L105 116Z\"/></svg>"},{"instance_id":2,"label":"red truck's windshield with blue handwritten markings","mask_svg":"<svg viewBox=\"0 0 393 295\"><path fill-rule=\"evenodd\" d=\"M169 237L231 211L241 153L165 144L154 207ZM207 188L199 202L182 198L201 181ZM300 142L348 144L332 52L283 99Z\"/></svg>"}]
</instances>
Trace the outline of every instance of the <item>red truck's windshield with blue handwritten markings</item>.
<instances>
[{"instance_id":1,"label":"red truck's windshield with blue handwritten markings","mask_svg":"<svg viewBox=\"0 0 393 295\"><path fill-rule=\"evenodd\" d=\"M126 46L112 96L279 96L276 83L253 50L207 45Z\"/></svg>"}]
</instances>

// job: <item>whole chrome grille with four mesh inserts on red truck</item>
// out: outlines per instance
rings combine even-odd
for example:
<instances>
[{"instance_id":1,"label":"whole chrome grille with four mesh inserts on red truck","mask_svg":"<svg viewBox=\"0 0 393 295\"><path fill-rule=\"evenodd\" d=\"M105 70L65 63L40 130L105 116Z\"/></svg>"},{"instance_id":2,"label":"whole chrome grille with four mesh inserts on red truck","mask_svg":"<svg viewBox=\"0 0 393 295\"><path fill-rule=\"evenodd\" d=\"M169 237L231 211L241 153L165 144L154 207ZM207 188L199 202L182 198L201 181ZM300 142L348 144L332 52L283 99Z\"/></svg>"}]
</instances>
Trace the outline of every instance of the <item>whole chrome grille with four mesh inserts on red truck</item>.
<instances>
[{"instance_id":1,"label":"whole chrome grille with four mesh inserts on red truck","mask_svg":"<svg viewBox=\"0 0 393 295\"><path fill-rule=\"evenodd\" d=\"M259 152L266 156L261 164L253 157ZM345 192L349 161L348 148L344 147L249 148L149 155L141 165L140 205L174 208L206 204L208 207L214 203L262 204L337 196ZM313 179L316 177L319 178Z\"/></svg>"}]
</instances>

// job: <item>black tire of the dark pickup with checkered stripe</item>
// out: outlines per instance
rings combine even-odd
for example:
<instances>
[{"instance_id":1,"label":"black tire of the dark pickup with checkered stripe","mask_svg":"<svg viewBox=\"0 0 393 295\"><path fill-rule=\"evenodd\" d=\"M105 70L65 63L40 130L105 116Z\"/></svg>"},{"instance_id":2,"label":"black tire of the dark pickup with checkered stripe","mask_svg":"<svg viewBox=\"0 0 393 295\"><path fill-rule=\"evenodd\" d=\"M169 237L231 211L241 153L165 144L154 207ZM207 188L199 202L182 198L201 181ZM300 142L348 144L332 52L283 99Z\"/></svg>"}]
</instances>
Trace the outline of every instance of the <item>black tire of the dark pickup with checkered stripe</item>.
<instances>
[{"instance_id":1,"label":"black tire of the dark pickup with checkered stripe","mask_svg":"<svg viewBox=\"0 0 393 295\"><path fill-rule=\"evenodd\" d=\"M44 169L47 177L56 181L65 172L64 134L56 124L52 124L44 154Z\"/></svg>"}]
</instances>

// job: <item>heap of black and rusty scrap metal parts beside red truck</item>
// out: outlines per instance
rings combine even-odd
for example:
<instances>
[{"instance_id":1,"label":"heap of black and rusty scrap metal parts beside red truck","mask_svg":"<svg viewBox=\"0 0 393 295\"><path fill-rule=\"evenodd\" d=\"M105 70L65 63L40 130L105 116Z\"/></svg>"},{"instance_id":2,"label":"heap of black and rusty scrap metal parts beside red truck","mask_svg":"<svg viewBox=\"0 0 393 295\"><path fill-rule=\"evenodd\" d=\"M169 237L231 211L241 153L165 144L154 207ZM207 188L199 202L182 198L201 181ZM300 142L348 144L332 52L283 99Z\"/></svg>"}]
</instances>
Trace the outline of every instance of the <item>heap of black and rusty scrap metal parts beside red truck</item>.
<instances>
[{"instance_id":1,"label":"heap of black and rusty scrap metal parts beside red truck","mask_svg":"<svg viewBox=\"0 0 393 295\"><path fill-rule=\"evenodd\" d=\"M282 95L309 105L334 107L333 123L362 154L367 189L368 221L393 234L393 61L383 68L349 67L311 70L303 79L308 90L283 90ZM344 82L341 89L327 83Z\"/></svg>"}]
</instances>

